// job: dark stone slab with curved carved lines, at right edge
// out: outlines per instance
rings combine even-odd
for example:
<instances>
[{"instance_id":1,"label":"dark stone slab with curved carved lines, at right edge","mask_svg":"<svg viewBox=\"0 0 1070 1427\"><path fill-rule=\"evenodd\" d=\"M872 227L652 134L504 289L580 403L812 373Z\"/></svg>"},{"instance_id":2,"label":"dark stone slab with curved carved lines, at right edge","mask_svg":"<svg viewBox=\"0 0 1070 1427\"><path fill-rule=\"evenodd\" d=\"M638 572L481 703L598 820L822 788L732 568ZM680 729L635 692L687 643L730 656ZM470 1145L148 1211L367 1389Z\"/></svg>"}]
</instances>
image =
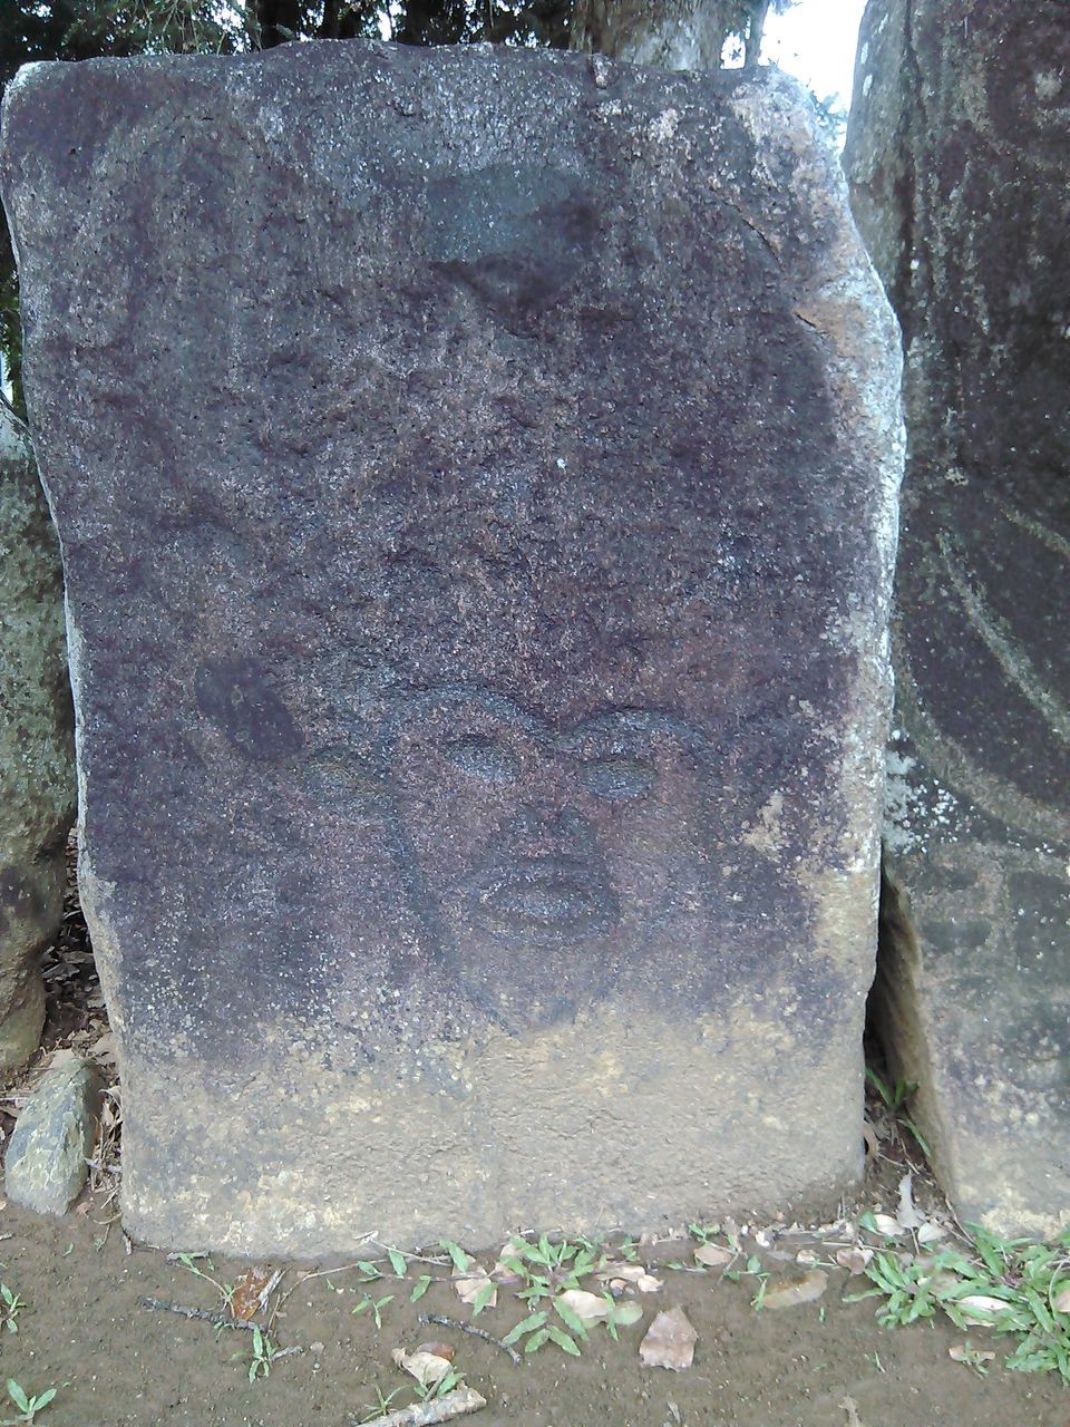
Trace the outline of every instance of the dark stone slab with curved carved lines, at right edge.
<instances>
[{"instance_id":1,"label":"dark stone slab with curved carved lines, at right edge","mask_svg":"<svg viewBox=\"0 0 1070 1427\"><path fill-rule=\"evenodd\" d=\"M846 166L906 341L899 1072L959 1213L1070 1223L1070 13L873 0Z\"/></svg>"}]
</instances>

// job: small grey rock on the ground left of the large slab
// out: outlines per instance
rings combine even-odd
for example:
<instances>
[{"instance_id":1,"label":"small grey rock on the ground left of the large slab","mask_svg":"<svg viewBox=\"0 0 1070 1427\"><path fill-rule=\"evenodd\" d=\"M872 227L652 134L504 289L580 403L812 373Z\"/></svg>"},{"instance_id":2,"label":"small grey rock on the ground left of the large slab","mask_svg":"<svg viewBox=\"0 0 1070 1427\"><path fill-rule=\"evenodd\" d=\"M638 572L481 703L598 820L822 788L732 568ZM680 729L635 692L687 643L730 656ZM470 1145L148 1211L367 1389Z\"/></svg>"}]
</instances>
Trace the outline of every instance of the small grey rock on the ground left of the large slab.
<instances>
[{"instance_id":1,"label":"small grey rock on the ground left of the large slab","mask_svg":"<svg viewBox=\"0 0 1070 1427\"><path fill-rule=\"evenodd\" d=\"M4 1156L4 1192L37 1214L66 1214L86 1184L100 1119L100 1072L76 1056L47 1070L19 1112Z\"/></svg>"}]
</instances>

